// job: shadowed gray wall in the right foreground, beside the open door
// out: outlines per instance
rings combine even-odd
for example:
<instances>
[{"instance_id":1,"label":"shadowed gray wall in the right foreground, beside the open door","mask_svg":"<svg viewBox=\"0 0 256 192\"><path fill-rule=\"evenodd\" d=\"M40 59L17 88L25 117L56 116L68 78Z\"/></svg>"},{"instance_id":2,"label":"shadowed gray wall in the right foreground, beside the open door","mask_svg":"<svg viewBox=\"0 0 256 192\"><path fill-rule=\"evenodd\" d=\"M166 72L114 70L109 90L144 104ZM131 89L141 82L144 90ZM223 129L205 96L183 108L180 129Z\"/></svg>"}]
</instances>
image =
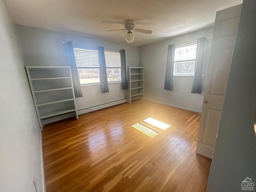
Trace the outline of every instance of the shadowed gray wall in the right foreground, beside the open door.
<instances>
[{"instance_id":1,"label":"shadowed gray wall in the right foreground, beside the open door","mask_svg":"<svg viewBox=\"0 0 256 192\"><path fill-rule=\"evenodd\" d=\"M255 10L255 0L243 1L208 179L208 192L241 191L241 182L247 177L254 182L256 191Z\"/></svg>"}]
</instances>

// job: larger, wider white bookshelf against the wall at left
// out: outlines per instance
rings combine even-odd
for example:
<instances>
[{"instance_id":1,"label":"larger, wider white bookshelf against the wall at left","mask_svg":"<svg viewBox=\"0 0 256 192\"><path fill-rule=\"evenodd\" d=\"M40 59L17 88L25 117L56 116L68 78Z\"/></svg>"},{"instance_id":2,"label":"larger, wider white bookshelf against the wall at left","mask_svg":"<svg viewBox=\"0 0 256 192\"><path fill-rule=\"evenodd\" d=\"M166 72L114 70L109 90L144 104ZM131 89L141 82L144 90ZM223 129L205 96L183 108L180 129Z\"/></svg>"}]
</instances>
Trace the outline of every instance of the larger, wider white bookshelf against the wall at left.
<instances>
[{"instance_id":1,"label":"larger, wider white bookshelf against the wall at left","mask_svg":"<svg viewBox=\"0 0 256 192\"><path fill-rule=\"evenodd\" d=\"M70 66L25 66L36 114L43 120L72 113L78 119Z\"/></svg>"}]
</instances>

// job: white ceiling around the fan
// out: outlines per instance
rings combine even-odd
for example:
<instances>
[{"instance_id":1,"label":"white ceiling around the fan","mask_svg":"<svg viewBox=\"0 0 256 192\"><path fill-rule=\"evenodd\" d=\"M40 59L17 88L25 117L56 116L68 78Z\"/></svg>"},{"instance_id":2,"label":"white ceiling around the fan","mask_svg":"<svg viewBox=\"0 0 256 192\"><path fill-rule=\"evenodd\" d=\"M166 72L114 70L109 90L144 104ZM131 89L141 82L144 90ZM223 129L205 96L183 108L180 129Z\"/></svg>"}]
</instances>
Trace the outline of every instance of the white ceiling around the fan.
<instances>
[{"instance_id":1,"label":"white ceiling around the fan","mask_svg":"<svg viewBox=\"0 0 256 192\"><path fill-rule=\"evenodd\" d=\"M16 24L90 34L119 43L126 43L126 33L106 30L122 29L124 20L135 20L138 22L135 28L153 31L150 35L134 32L131 45L141 46L212 26L216 11L242 0L6 0L6 3Z\"/></svg>"}]
</instances>

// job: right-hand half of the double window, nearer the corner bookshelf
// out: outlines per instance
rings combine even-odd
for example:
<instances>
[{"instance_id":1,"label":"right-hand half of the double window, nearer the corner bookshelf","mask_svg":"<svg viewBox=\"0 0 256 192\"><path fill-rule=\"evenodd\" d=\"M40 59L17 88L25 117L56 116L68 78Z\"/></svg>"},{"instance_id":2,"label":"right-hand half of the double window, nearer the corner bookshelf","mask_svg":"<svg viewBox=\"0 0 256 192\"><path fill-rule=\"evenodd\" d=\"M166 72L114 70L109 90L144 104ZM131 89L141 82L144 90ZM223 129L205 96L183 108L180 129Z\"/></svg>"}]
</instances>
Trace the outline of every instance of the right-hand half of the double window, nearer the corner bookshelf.
<instances>
[{"instance_id":1,"label":"right-hand half of the double window, nearer the corner bookshelf","mask_svg":"<svg viewBox=\"0 0 256 192\"><path fill-rule=\"evenodd\" d=\"M108 82L121 81L120 52L104 51Z\"/></svg>"}]
</instances>

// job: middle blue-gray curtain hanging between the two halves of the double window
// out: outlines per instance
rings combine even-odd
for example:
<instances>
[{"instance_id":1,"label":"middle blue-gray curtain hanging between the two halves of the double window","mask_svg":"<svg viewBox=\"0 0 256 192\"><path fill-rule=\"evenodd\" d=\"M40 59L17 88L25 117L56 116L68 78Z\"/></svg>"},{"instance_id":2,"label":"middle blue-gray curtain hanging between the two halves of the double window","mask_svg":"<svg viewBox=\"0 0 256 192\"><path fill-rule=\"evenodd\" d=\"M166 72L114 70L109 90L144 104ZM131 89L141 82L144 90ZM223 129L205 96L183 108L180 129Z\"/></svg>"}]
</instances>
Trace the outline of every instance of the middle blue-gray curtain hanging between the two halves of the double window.
<instances>
[{"instance_id":1,"label":"middle blue-gray curtain hanging between the two halves of the double window","mask_svg":"<svg viewBox=\"0 0 256 192\"><path fill-rule=\"evenodd\" d=\"M108 93L108 77L106 70L106 60L104 54L104 47L98 47L99 51L99 60L100 60L100 83L101 83L101 92Z\"/></svg>"}]
</instances>

